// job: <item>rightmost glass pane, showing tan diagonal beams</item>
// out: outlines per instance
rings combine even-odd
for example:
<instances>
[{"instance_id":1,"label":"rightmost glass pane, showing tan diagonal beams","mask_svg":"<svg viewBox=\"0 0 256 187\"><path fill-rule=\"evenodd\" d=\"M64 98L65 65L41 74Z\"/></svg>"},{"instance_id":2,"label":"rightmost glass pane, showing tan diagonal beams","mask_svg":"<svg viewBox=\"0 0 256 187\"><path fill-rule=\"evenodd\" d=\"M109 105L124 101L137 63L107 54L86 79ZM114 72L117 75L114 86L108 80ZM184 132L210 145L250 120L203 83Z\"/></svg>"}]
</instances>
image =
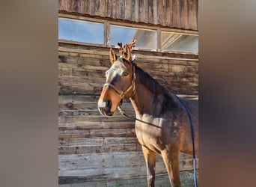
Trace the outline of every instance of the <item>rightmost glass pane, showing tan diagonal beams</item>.
<instances>
[{"instance_id":1,"label":"rightmost glass pane, showing tan diagonal beams","mask_svg":"<svg viewBox=\"0 0 256 187\"><path fill-rule=\"evenodd\" d=\"M198 36L179 34L174 32L161 32L162 50L177 52L192 52L198 54Z\"/></svg>"}]
</instances>

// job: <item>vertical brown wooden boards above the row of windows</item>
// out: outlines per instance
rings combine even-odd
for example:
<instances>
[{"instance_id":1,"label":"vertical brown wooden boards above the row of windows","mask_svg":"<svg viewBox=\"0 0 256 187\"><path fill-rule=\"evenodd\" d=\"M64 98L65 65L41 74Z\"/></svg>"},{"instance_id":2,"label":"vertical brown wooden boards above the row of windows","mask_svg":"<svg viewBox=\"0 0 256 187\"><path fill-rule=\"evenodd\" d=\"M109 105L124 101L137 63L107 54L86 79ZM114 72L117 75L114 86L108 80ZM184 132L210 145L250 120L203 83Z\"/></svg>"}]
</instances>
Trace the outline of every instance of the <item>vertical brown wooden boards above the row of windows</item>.
<instances>
[{"instance_id":1,"label":"vertical brown wooden boards above the row of windows","mask_svg":"<svg viewBox=\"0 0 256 187\"><path fill-rule=\"evenodd\" d=\"M59 0L59 11L198 31L198 0Z\"/></svg>"}]
</instances>

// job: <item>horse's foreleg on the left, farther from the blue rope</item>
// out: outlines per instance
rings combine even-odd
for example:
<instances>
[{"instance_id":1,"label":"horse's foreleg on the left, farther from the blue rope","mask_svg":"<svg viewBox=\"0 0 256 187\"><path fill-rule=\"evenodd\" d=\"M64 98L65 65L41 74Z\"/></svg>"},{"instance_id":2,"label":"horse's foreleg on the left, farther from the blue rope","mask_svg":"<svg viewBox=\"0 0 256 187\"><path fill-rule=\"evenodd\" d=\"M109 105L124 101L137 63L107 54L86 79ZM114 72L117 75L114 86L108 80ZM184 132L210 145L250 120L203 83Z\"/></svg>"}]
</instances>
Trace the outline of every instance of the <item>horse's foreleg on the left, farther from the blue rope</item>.
<instances>
[{"instance_id":1,"label":"horse's foreleg on the left, farther from the blue rope","mask_svg":"<svg viewBox=\"0 0 256 187\"><path fill-rule=\"evenodd\" d=\"M147 186L155 186L156 153L144 146L142 151L147 165Z\"/></svg>"}]
</instances>

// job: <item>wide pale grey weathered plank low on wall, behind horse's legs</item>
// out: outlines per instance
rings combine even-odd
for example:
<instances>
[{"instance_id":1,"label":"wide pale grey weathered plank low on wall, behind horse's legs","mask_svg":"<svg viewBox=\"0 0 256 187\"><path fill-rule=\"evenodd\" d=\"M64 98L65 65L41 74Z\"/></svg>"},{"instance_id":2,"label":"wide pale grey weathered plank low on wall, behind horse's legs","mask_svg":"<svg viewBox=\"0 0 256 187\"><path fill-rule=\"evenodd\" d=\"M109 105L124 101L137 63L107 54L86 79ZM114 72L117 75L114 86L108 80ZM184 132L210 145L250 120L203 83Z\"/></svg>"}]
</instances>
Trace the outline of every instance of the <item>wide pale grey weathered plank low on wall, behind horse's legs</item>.
<instances>
[{"instance_id":1,"label":"wide pale grey weathered plank low on wall, behind horse's legs","mask_svg":"<svg viewBox=\"0 0 256 187\"><path fill-rule=\"evenodd\" d=\"M146 175L142 152L113 152L59 155L59 176L83 176L88 180L99 177L126 178ZM192 170L192 156L180 154L180 171ZM156 156L156 174L166 174L162 158Z\"/></svg>"}]
</instances>

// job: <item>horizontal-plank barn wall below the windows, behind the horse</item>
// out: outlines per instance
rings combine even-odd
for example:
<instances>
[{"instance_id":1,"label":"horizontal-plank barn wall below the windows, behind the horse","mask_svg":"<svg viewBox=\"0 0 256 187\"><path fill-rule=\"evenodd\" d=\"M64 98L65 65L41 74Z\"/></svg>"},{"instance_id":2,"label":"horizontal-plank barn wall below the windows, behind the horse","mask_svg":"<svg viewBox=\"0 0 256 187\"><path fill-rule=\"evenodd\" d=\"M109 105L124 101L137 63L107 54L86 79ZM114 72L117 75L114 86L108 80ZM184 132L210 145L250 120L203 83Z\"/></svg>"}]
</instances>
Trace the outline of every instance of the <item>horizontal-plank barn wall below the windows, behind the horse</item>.
<instances>
[{"instance_id":1,"label":"horizontal-plank barn wall below the windows, behind the horse","mask_svg":"<svg viewBox=\"0 0 256 187\"><path fill-rule=\"evenodd\" d=\"M132 53L136 55L138 67L169 90L198 94L198 55L135 50ZM97 99L109 67L109 48L59 43L60 183L70 183L76 177L91 182L146 176L134 120L119 113L105 117L97 111ZM129 101L124 102L123 108L127 114L134 115ZM192 170L192 156L180 155L180 169ZM166 174L160 156L157 156L156 174Z\"/></svg>"}]
</instances>

